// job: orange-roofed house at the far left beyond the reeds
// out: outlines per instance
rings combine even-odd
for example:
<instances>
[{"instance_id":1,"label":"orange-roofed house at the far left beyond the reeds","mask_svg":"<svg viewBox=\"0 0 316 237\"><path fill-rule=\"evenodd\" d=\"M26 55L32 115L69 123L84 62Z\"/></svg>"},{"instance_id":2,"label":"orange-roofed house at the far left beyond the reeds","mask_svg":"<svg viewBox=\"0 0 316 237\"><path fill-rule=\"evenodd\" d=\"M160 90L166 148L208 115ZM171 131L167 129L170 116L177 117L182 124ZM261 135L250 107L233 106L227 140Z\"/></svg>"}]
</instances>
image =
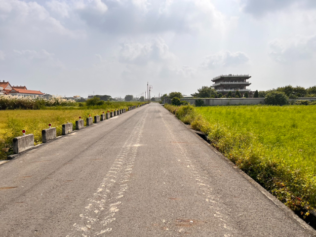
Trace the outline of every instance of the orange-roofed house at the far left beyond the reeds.
<instances>
[{"instance_id":1,"label":"orange-roofed house at the far left beyond the reeds","mask_svg":"<svg viewBox=\"0 0 316 237\"><path fill-rule=\"evenodd\" d=\"M22 96L22 97L40 97L43 98L44 93L40 92L39 90L28 90L25 85L20 86L11 86L8 81L0 81L0 87L3 89L2 93L5 95L16 95L16 96Z\"/></svg>"}]
</instances>

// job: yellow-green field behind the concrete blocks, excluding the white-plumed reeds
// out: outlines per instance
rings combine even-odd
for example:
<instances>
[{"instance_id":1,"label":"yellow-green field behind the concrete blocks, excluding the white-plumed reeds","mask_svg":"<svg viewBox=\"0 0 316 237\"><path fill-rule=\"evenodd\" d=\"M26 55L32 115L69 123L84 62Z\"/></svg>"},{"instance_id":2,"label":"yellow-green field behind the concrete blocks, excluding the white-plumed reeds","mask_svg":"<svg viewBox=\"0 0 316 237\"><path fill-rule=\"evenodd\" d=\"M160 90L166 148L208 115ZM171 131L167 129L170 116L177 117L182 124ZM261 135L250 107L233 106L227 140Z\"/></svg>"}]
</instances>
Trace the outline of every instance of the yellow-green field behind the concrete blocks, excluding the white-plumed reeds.
<instances>
[{"instance_id":1,"label":"yellow-green field behind the concrete blocks, excluding the white-plumed reeds","mask_svg":"<svg viewBox=\"0 0 316 237\"><path fill-rule=\"evenodd\" d=\"M25 129L27 134L33 133L35 144L41 143L41 130L48 128L51 123L56 127L57 136L62 134L63 123L72 122L95 115L101 115L108 110L123 109L128 106L142 104L141 102L110 102L102 106L92 107L51 107L42 110L0 110L0 159L13 153L12 139L22 135ZM75 127L74 127L75 128Z\"/></svg>"}]
</instances>

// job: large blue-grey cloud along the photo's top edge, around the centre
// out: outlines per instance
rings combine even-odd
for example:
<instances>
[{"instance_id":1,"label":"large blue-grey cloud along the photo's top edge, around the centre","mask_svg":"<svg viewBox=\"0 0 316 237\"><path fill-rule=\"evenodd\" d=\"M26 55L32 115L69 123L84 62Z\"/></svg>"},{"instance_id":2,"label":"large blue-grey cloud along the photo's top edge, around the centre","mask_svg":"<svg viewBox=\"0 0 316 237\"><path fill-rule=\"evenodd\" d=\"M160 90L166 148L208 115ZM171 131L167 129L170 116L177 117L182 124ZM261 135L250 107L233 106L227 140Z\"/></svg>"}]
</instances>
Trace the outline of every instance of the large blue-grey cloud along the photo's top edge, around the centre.
<instances>
[{"instance_id":1,"label":"large blue-grey cloud along the photo's top edge, around the centre","mask_svg":"<svg viewBox=\"0 0 316 237\"><path fill-rule=\"evenodd\" d=\"M94 2L94 1L93 1ZM181 32L197 33L207 28L222 31L225 17L208 0L104 0L77 4L78 14L88 25L113 34Z\"/></svg>"}]
</instances>

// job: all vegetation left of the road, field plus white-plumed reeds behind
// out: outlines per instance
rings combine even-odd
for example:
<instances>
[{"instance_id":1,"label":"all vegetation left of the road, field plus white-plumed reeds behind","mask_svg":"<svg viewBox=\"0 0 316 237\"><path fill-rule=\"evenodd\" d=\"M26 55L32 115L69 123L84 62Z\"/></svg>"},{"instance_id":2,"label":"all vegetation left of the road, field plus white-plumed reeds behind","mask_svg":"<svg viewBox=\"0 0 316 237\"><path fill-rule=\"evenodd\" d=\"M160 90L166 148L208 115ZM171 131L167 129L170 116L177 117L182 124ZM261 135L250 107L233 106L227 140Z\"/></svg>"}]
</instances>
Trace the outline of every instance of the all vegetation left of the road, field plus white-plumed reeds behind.
<instances>
[{"instance_id":1,"label":"all vegetation left of the road, field plus white-plumed reeds behind","mask_svg":"<svg viewBox=\"0 0 316 237\"><path fill-rule=\"evenodd\" d=\"M40 100L3 97L0 97L0 159L6 159L8 155L13 154L12 139L21 136L23 129L27 134L33 133L35 144L39 144L41 130L48 128L49 123L52 127L56 127L57 136L60 136L61 125L72 122L75 128L75 121L79 120L79 117L84 119L86 125L85 119L89 115L94 117L103 112L143 104L143 102L102 101L98 97L86 102L67 101L63 98Z\"/></svg>"}]
</instances>

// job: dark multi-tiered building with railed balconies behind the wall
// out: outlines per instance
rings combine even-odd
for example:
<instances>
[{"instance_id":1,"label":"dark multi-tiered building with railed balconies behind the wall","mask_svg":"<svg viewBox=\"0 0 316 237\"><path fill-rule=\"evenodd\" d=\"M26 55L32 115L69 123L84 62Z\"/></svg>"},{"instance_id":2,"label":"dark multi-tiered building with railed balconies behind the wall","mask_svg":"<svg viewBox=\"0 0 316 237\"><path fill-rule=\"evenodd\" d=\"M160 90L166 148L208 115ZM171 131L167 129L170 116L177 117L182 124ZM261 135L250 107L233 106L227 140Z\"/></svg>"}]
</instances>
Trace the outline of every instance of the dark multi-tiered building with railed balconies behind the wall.
<instances>
[{"instance_id":1,"label":"dark multi-tiered building with railed balconies behind the wall","mask_svg":"<svg viewBox=\"0 0 316 237\"><path fill-rule=\"evenodd\" d=\"M241 94L245 92L248 92L249 94L250 89L246 88L251 84L247 81L249 78L251 78L249 75L220 75L212 79L214 82L212 86L218 93L222 93L223 95L227 94L229 91L236 93L237 90L239 90Z\"/></svg>"}]
</instances>

